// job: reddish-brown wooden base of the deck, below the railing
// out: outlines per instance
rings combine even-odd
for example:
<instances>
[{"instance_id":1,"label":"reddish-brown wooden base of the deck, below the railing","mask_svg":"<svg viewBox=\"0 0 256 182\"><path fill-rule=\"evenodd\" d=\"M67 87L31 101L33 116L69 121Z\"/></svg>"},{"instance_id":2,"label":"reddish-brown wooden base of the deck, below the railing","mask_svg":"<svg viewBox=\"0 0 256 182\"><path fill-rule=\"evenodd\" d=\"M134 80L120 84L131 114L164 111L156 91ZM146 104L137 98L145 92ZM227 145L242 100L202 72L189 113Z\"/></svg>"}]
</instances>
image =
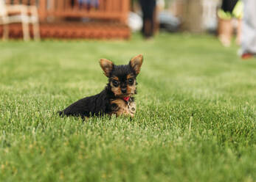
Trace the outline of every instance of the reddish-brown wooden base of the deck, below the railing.
<instances>
[{"instance_id":1,"label":"reddish-brown wooden base of the deck, below the railing","mask_svg":"<svg viewBox=\"0 0 256 182\"><path fill-rule=\"evenodd\" d=\"M41 37L55 37L55 38L122 38L128 39L131 32L128 26L123 26L117 23L88 23L81 25L80 23L41 23L40 26ZM2 29L0 26L0 37ZM30 26L30 34L32 26ZM10 25L10 37L22 38L22 28L20 23Z\"/></svg>"}]
</instances>

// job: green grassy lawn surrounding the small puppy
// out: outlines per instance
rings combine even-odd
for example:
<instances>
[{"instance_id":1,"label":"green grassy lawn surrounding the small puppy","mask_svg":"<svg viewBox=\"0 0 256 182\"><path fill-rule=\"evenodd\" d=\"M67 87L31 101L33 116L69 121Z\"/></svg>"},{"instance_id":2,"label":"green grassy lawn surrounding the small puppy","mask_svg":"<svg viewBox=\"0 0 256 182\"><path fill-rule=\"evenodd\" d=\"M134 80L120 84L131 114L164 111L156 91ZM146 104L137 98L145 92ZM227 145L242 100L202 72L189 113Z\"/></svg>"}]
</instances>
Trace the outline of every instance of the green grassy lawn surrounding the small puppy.
<instances>
[{"instance_id":1,"label":"green grassy lawn surrounding the small puppy","mask_svg":"<svg viewBox=\"0 0 256 182\"><path fill-rule=\"evenodd\" d=\"M215 37L0 42L0 181L256 181L256 59ZM137 112L60 118L105 87L98 60L145 62Z\"/></svg>"}]
</instances>

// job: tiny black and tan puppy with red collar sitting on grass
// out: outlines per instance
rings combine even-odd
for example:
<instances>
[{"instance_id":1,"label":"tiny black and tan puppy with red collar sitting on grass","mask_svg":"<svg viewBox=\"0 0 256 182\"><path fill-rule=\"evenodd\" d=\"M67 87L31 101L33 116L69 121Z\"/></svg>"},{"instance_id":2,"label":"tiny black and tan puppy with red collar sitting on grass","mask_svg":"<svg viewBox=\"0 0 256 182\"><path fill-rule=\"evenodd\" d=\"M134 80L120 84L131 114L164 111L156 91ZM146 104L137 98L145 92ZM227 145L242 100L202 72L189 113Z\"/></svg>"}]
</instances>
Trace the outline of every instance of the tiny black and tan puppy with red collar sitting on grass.
<instances>
[{"instance_id":1,"label":"tiny black and tan puppy with red collar sitting on grass","mask_svg":"<svg viewBox=\"0 0 256 182\"><path fill-rule=\"evenodd\" d=\"M115 114L116 116L134 117L136 112L134 102L136 76L139 74L142 62L142 54L132 58L128 65L114 65L108 59L100 59L100 67L108 77L105 89L97 95L72 103L59 112L60 116L77 116L84 119L104 114Z\"/></svg>"}]
</instances>

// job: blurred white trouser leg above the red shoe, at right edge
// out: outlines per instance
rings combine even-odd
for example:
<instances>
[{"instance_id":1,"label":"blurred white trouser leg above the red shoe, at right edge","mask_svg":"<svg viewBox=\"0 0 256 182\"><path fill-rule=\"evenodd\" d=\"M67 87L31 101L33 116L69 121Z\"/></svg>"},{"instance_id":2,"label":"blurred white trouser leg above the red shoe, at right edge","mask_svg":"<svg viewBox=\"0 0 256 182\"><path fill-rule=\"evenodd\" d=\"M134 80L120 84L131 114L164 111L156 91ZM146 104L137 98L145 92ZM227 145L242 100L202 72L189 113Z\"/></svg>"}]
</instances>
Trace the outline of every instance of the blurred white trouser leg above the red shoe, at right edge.
<instances>
[{"instance_id":1,"label":"blurred white trouser leg above the red shoe, at right edge","mask_svg":"<svg viewBox=\"0 0 256 182\"><path fill-rule=\"evenodd\" d=\"M241 54L256 54L256 1L243 0Z\"/></svg>"}]
</instances>

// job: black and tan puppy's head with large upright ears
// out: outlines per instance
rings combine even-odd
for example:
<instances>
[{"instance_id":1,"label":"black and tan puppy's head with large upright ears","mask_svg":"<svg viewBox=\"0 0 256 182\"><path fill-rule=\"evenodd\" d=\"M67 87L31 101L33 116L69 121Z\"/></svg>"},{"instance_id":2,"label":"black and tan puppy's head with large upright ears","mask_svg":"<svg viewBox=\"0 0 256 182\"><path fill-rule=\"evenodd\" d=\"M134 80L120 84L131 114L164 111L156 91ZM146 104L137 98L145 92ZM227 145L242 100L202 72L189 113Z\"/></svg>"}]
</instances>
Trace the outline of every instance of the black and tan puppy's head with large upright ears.
<instances>
[{"instance_id":1,"label":"black and tan puppy's head with large upright ears","mask_svg":"<svg viewBox=\"0 0 256 182\"><path fill-rule=\"evenodd\" d=\"M128 65L114 65L108 59L100 59L100 67L108 77L111 91L116 97L130 97L136 93L136 76L139 74L142 62L142 54L132 58Z\"/></svg>"}]
</instances>

